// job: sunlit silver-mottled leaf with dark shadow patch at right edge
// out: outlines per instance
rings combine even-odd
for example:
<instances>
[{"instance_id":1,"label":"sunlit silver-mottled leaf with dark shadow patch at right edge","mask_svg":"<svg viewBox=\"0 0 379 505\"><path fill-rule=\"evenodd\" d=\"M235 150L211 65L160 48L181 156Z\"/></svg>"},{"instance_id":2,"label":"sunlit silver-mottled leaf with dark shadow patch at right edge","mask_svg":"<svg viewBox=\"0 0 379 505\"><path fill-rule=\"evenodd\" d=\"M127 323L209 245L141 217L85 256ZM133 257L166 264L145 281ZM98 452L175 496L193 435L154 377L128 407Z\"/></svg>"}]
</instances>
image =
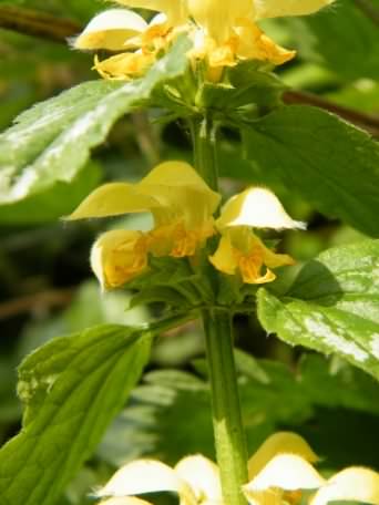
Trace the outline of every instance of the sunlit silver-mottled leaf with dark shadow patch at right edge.
<instances>
[{"instance_id":1,"label":"sunlit silver-mottled leaf with dark shadow patch at right edge","mask_svg":"<svg viewBox=\"0 0 379 505\"><path fill-rule=\"evenodd\" d=\"M379 240L322 252L289 292L258 291L258 317L287 343L336 353L379 380Z\"/></svg>"}]
</instances>

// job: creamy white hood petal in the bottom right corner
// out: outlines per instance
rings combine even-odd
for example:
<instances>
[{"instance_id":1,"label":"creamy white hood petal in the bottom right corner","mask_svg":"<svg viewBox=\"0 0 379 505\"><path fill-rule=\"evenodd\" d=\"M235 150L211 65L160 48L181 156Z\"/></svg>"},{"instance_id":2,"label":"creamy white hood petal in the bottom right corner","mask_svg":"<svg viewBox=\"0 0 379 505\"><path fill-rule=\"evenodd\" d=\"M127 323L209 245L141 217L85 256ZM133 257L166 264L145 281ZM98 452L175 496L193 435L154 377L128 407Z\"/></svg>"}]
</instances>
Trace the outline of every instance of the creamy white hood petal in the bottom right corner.
<instances>
[{"instance_id":1,"label":"creamy white hood petal in the bottom right corner","mask_svg":"<svg viewBox=\"0 0 379 505\"><path fill-rule=\"evenodd\" d=\"M379 473L358 466L345 468L316 493L310 504L327 505L335 501L379 505Z\"/></svg>"}]
</instances>

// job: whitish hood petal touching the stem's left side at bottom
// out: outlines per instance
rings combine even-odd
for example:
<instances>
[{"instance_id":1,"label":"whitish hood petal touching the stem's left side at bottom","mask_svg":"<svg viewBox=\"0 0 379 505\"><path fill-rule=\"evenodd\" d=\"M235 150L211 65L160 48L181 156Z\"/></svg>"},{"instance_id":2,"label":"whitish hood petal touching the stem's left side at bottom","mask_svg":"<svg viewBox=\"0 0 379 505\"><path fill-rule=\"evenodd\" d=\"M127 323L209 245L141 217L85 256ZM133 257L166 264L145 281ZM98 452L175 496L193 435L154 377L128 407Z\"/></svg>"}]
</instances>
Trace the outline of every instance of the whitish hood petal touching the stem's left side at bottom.
<instances>
[{"instance_id":1,"label":"whitish hood petal touching the stem's left side at bottom","mask_svg":"<svg viewBox=\"0 0 379 505\"><path fill-rule=\"evenodd\" d=\"M217 465L202 455L187 456L175 466L180 475L195 493L198 503L208 499L211 503L222 503L223 493Z\"/></svg>"}]
</instances>

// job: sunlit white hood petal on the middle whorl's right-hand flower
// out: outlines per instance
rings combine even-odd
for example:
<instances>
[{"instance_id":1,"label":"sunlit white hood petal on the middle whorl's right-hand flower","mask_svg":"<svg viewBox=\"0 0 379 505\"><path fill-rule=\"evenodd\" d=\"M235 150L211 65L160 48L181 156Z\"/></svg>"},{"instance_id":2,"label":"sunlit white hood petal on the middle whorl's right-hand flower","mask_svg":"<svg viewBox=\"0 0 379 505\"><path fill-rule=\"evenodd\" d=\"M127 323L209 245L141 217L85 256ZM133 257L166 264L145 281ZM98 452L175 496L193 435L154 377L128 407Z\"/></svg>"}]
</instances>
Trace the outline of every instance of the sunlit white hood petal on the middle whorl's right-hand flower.
<instances>
[{"instance_id":1,"label":"sunlit white hood petal on the middle whorl's right-hand flower","mask_svg":"<svg viewBox=\"0 0 379 505\"><path fill-rule=\"evenodd\" d=\"M222 209L216 226L219 229L233 226L306 228L305 223L293 220L288 216L274 193L263 187L250 187L232 197Z\"/></svg>"}]
</instances>

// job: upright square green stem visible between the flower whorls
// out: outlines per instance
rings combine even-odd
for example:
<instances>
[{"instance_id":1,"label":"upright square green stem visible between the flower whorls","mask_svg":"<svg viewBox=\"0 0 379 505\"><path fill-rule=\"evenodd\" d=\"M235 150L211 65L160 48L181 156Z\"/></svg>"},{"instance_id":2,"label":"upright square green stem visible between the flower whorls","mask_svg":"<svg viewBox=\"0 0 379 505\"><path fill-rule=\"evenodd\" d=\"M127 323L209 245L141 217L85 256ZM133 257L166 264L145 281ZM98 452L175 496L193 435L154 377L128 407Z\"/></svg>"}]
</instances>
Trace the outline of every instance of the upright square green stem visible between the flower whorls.
<instances>
[{"instance_id":1,"label":"upright square green stem visible between the flower whorls","mask_svg":"<svg viewBox=\"0 0 379 505\"><path fill-rule=\"evenodd\" d=\"M192 124L195 166L212 189L218 189L216 128L211 117ZM234 362L232 317L226 310L204 310L213 426L225 505L246 505L248 481L245 433Z\"/></svg>"}]
</instances>

